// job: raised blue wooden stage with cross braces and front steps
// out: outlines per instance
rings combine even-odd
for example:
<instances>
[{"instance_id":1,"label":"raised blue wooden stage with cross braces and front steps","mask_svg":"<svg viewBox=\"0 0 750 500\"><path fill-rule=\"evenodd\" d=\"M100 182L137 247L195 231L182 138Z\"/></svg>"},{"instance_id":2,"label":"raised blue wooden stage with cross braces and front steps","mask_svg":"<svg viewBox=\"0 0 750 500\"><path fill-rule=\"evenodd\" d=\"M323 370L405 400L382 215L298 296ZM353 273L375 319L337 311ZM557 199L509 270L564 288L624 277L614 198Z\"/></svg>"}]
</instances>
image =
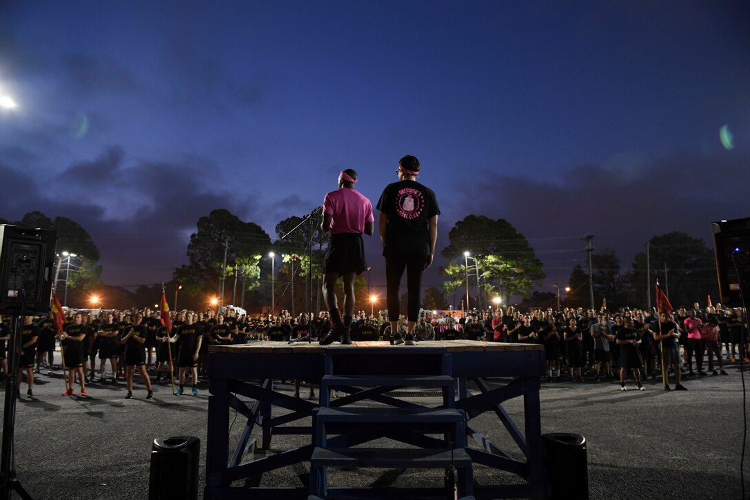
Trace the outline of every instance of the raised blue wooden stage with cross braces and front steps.
<instances>
[{"instance_id":1,"label":"raised blue wooden stage with cross braces and front steps","mask_svg":"<svg viewBox=\"0 0 750 500\"><path fill-rule=\"evenodd\" d=\"M446 465L446 450L458 457L455 463L459 468L460 495L464 498L543 498L547 491L541 462L541 345L463 340L422 341L413 346L388 342L327 346L254 342L211 347L208 372L211 396L205 498L445 498L443 490L435 488L405 492L329 487L327 468L440 468L441 464ZM293 378L321 384L319 399L307 401L274 390L274 380ZM490 387L487 378L502 378L505 384L498 387L494 383ZM469 394L467 384L475 385L477 390ZM439 389L443 393L442 404L428 408L389 396L391 391L403 387ZM329 389L345 396L332 400ZM523 396L523 432L502 407L503 402L519 396ZM275 414L275 408L289 412ZM230 409L246 419L245 429L231 452ZM514 458L475 428L472 420L484 412L496 414L498 426L492 430L505 429L525 460ZM405 424L399 428L407 430L394 432L394 426L385 425L383 418L403 420ZM455 427L457 422L459 427ZM415 425L410 427L410 423ZM252 439L259 426L260 443ZM328 437L329 433L336 437ZM284 434L308 435L306 442L310 444L260 459L252 459L248 453L254 447L269 449L273 436ZM435 434L443 438L430 436ZM370 449L358 445L378 438L389 438L407 447L390 450L383 458L370 456L378 450L359 452ZM305 461L311 462L308 489L232 486L233 481L260 477L264 472ZM472 464L509 471L519 481L473 485Z\"/></svg>"}]
</instances>

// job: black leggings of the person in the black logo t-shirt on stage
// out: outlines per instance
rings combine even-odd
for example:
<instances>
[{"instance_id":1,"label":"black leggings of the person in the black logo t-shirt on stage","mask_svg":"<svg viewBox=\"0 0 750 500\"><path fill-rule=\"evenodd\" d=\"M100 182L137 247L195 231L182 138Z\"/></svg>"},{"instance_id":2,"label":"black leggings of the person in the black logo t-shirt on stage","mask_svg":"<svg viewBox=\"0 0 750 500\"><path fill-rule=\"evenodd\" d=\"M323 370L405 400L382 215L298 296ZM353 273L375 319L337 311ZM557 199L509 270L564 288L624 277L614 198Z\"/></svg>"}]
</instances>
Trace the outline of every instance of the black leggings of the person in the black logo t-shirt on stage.
<instances>
[{"instance_id":1,"label":"black leggings of the person in the black logo t-shirt on stage","mask_svg":"<svg viewBox=\"0 0 750 500\"><path fill-rule=\"evenodd\" d=\"M419 319L420 294L422 292L422 273L427 263L426 255L413 257L386 257L386 303L388 305L389 321L398 321L401 304L398 289L401 287L401 276L407 270L407 319Z\"/></svg>"}]
</instances>

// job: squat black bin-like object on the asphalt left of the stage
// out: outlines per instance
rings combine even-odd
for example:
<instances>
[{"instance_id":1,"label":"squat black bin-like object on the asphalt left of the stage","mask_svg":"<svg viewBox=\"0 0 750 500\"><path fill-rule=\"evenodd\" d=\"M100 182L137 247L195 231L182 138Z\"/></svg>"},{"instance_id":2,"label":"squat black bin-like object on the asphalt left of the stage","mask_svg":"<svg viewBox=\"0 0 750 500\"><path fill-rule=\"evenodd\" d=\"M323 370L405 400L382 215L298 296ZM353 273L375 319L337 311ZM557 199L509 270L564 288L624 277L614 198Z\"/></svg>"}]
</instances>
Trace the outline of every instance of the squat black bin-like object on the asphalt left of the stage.
<instances>
[{"instance_id":1,"label":"squat black bin-like object on the asphalt left of the stage","mask_svg":"<svg viewBox=\"0 0 750 500\"><path fill-rule=\"evenodd\" d=\"M154 439L148 500L197 500L199 465L199 438Z\"/></svg>"}]
</instances>

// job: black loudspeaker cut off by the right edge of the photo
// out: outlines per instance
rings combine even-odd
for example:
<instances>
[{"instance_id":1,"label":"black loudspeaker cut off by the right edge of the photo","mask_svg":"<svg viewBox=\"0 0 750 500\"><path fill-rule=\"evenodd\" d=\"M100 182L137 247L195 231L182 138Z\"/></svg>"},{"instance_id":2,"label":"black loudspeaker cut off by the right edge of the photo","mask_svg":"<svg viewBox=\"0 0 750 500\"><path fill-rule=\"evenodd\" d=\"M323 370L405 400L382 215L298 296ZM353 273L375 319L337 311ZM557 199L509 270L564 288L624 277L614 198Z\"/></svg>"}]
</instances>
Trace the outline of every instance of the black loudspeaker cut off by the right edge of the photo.
<instances>
[{"instance_id":1,"label":"black loudspeaker cut off by the right edge of the photo","mask_svg":"<svg viewBox=\"0 0 750 500\"><path fill-rule=\"evenodd\" d=\"M750 286L750 218L711 223L718 274L718 291L724 306L742 307L740 288Z\"/></svg>"}]
</instances>

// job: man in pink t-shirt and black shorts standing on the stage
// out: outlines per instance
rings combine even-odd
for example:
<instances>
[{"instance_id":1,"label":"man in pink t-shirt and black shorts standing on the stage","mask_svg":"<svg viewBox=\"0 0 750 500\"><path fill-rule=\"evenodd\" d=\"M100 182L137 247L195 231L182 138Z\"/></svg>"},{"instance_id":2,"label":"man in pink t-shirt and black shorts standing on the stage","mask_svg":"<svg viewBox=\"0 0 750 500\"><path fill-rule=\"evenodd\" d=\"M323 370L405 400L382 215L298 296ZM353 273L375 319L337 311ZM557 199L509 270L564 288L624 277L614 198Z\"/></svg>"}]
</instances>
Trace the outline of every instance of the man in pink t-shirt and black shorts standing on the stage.
<instances>
[{"instance_id":1,"label":"man in pink t-shirt and black shorts standing on the stage","mask_svg":"<svg viewBox=\"0 0 750 500\"><path fill-rule=\"evenodd\" d=\"M323 267L323 300L329 309L333 326L320 339L321 345L337 340L351 344L350 329L354 318L354 279L368 269L362 233L370 236L375 218L370 200L356 191L357 173L352 168L338 175L338 189L323 198L323 222L320 229L331 235ZM344 279L344 318L338 309L336 281Z\"/></svg>"}]
</instances>

